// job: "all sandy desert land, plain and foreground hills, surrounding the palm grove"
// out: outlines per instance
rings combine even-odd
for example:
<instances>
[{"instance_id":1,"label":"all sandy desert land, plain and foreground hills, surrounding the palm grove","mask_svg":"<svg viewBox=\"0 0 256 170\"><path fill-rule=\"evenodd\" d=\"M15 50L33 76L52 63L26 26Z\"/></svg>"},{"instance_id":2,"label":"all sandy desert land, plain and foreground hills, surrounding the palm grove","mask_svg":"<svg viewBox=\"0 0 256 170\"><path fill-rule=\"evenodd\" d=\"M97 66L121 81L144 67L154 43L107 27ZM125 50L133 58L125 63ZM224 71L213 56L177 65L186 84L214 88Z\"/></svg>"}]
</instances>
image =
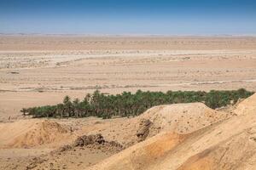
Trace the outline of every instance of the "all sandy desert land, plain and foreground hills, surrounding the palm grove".
<instances>
[{"instance_id":1,"label":"all sandy desert land, plain and foreground hills, surrounding the palm grove","mask_svg":"<svg viewBox=\"0 0 256 170\"><path fill-rule=\"evenodd\" d=\"M255 169L256 94L212 110L33 119L99 89L256 91L256 37L0 36L0 169Z\"/></svg>"}]
</instances>

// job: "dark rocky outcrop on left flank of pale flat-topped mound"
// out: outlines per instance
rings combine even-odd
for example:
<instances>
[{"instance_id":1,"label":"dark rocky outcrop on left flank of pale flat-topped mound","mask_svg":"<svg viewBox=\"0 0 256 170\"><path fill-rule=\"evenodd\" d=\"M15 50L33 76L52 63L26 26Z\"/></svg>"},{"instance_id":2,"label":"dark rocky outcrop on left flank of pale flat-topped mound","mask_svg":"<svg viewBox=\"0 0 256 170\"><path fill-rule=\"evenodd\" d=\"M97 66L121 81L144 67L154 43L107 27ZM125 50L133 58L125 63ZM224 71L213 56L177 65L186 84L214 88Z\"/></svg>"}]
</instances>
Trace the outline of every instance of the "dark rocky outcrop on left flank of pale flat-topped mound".
<instances>
[{"instance_id":1,"label":"dark rocky outcrop on left flank of pale flat-topped mound","mask_svg":"<svg viewBox=\"0 0 256 170\"><path fill-rule=\"evenodd\" d=\"M148 137L149 128L153 122L149 121L148 119L142 119L139 124L139 128L137 130L137 141L142 142Z\"/></svg>"}]
</instances>

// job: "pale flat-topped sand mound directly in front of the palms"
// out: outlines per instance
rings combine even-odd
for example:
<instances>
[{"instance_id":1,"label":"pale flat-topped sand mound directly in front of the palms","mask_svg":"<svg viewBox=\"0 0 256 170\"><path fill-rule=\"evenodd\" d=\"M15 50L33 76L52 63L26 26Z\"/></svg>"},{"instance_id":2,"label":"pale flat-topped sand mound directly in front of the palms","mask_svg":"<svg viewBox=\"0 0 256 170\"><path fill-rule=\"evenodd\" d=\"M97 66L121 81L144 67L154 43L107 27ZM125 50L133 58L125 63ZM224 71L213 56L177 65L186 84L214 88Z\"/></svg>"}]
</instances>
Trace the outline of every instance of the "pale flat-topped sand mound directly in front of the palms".
<instances>
[{"instance_id":1,"label":"pale flat-topped sand mound directly in front of the palms","mask_svg":"<svg viewBox=\"0 0 256 170\"><path fill-rule=\"evenodd\" d=\"M229 113L214 111L202 103L191 103L156 106L138 118L149 119L153 122L152 128L160 132L192 133L229 116Z\"/></svg>"}]
</instances>

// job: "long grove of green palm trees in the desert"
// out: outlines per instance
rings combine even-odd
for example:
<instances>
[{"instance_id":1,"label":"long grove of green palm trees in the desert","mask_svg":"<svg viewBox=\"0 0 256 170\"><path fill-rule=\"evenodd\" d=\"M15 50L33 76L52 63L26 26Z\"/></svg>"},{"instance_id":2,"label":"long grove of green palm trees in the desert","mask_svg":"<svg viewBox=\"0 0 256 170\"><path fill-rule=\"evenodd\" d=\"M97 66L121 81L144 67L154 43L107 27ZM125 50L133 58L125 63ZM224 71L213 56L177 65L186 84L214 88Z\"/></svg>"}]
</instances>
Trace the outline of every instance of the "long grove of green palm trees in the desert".
<instances>
[{"instance_id":1,"label":"long grove of green palm trees in the desert","mask_svg":"<svg viewBox=\"0 0 256 170\"><path fill-rule=\"evenodd\" d=\"M253 92L241 88L232 91L168 91L143 92L138 90L136 94L124 92L123 94L107 95L96 90L93 94L87 94L79 101L66 96L63 103L58 105L45 105L22 109L23 115L33 117L84 117L98 116L103 119L112 116L137 116L154 105L166 105L177 103L203 102L212 109L235 104L238 99L244 99Z\"/></svg>"}]
</instances>

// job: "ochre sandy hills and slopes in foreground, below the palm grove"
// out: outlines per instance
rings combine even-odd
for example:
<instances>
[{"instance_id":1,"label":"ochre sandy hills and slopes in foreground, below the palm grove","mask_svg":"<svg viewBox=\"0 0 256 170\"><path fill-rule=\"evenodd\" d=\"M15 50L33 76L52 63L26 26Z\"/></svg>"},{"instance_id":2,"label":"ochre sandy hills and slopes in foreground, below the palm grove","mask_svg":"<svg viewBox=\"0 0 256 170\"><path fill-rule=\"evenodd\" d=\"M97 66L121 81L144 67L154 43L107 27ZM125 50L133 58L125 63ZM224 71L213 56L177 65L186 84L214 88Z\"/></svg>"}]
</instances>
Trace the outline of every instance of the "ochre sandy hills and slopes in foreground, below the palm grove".
<instances>
[{"instance_id":1,"label":"ochre sandy hills and slopes in foreground, below the palm grove","mask_svg":"<svg viewBox=\"0 0 256 170\"><path fill-rule=\"evenodd\" d=\"M26 119L0 125L3 169L254 169L256 94L229 112L201 103L155 106L133 118ZM139 142L140 122L148 119ZM102 133L125 150L59 148ZM242 146L242 147L241 147ZM240 150L237 148L241 147Z\"/></svg>"}]
</instances>

